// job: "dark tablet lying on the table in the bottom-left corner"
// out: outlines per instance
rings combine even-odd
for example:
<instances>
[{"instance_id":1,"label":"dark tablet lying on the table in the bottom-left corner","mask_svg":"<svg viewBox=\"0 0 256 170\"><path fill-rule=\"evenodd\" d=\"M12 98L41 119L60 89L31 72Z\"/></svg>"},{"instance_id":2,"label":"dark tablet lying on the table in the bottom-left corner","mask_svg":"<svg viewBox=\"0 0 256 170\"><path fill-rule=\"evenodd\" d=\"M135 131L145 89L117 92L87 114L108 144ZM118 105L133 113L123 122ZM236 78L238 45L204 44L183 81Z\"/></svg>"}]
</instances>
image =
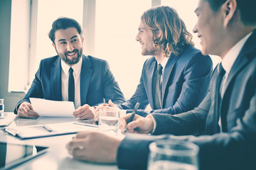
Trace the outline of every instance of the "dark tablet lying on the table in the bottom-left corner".
<instances>
[{"instance_id":1,"label":"dark tablet lying on the table in the bottom-left corner","mask_svg":"<svg viewBox=\"0 0 256 170\"><path fill-rule=\"evenodd\" d=\"M48 147L0 142L0 169L12 169L18 164L45 153L47 149Z\"/></svg>"}]
</instances>

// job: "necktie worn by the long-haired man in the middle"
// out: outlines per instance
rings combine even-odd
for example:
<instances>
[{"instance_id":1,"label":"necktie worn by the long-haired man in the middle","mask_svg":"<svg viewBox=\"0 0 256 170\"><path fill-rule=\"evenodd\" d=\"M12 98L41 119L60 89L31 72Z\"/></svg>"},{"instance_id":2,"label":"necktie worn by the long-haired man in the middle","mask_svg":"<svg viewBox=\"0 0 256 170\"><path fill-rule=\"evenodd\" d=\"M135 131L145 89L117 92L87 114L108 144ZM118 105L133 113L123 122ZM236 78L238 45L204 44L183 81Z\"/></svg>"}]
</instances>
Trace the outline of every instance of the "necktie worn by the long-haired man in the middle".
<instances>
[{"instance_id":1,"label":"necktie worn by the long-haired man in the middle","mask_svg":"<svg viewBox=\"0 0 256 170\"><path fill-rule=\"evenodd\" d=\"M161 74L162 74L162 69L163 67L161 64L157 65L157 70L156 70L156 90L154 93L154 109L160 109L162 108L161 106Z\"/></svg>"}]
</instances>

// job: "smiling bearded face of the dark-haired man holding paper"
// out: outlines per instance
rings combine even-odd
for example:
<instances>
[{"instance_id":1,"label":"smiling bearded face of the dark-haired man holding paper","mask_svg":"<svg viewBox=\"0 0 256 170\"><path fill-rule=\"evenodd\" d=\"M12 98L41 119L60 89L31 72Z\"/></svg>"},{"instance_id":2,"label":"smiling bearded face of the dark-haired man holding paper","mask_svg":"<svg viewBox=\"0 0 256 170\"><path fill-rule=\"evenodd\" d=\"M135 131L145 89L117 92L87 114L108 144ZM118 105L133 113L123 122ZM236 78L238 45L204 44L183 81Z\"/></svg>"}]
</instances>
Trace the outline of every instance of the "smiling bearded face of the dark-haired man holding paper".
<instances>
[{"instance_id":1,"label":"smiling bearded face of the dark-haired man holding paper","mask_svg":"<svg viewBox=\"0 0 256 170\"><path fill-rule=\"evenodd\" d=\"M81 38L76 28L60 29L55 31L55 47L58 56L68 65L72 66L79 62L82 56Z\"/></svg>"}]
</instances>

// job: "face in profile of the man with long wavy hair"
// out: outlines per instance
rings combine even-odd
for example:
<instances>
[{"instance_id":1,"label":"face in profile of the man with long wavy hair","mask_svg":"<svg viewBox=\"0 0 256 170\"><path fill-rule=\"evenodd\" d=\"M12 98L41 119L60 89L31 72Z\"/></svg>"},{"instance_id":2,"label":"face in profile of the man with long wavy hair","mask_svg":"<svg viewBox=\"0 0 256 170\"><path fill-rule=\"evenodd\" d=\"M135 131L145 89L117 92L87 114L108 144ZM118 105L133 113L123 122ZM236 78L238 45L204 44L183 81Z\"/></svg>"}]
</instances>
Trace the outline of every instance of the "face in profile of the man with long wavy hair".
<instances>
[{"instance_id":1,"label":"face in profile of the man with long wavy hair","mask_svg":"<svg viewBox=\"0 0 256 170\"><path fill-rule=\"evenodd\" d=\"M142 55L156 55L158 52L154 46L154 34L142 21L139 23L139 33L136 40L142 45Z\"/></svg>"}]
</instances>

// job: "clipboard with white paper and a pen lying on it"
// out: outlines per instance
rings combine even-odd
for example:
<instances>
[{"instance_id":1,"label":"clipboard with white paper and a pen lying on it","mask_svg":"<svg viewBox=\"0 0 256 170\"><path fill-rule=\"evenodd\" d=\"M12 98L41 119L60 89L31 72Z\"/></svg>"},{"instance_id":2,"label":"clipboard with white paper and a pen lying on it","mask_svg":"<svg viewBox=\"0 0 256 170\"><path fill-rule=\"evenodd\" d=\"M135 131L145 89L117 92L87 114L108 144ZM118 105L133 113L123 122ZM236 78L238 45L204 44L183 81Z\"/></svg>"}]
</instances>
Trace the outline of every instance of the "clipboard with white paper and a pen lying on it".
<instances>
[{"instance_id":1,"label":"clipboard with white paper and a pen lying on it","mask_svg":"<svg viewBox=\"0 0 256 170\"><path fill-rule=\"evenodd\" d=\"M47 128L46 128L47 127ZM49 130L50 129L50 130ZM97 130L97 125L79 125L78 122L70 123L52 123L45 125L30 125L21 126L15 128L5 128L4 131L9 134L18 137L21 140L36 138L36 137L48 137L55 135L67 135L76 132L82 132L87 130Z\"/></svg>"}]
</instances>

